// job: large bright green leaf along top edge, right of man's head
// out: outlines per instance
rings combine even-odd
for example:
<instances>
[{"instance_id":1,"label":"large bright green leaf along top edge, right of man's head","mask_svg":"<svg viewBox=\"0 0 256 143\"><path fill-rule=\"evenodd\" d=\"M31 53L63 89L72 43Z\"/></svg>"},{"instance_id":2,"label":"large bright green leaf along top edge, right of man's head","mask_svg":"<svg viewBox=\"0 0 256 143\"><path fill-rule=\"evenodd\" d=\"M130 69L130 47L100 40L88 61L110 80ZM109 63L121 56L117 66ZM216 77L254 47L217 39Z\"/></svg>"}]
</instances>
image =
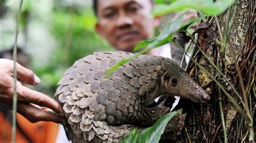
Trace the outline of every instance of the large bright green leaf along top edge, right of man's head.
<instances>
[{"instance_id":1,"label":"large bright green leaf along top edge, right of man's head","mask_svg":"<svg viewBox=\"0 0 256 143\"><path fill-rule=\"evenodd\" d=\"M180 0L169 5L156 5L153 10L153 15L161 16L174 11L183 11L185 9L196 9L208 16L220 15L233 3L234 0L218 0L216 2L213 2L212 0Z\"/></svg>"}]
</instances>

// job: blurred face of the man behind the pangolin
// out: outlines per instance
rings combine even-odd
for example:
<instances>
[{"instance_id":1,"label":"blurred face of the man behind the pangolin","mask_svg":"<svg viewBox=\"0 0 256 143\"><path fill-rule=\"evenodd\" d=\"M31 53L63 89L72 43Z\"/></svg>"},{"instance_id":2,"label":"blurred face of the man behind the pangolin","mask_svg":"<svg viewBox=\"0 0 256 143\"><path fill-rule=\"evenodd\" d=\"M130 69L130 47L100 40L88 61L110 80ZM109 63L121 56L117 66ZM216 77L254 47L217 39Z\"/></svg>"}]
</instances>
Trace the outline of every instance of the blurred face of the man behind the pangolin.
<instances>
[{"instance_id":1,"label":"blurred face of the man behind the pangolin","mask_svg":"<svg viewBox=\"0 0 256 143\"><path fill-rule=\"evenodd\" d=\"M151 10L150 0L99 0L96 31L116 49L132 52L159 25L158 18L150 18Z\"/></svg>"}]
</instances>

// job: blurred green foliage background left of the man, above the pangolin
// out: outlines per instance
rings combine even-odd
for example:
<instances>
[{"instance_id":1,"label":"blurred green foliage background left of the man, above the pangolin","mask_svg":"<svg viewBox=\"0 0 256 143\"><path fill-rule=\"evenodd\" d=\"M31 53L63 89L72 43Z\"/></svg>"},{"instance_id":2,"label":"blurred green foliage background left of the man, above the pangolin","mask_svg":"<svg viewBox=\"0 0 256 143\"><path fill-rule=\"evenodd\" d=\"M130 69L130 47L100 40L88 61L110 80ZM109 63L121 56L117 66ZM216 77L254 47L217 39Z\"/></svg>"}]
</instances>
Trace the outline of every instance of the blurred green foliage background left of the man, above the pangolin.
<instances>
[{"instance_id":1,"label":"blurred green foliage background left of the man, above the pangolin","mask_svg":"<svg viewBox=\"0 0 256 143\"><path fill-rule=\"evenodd\" d=\"M14 45L19 0L0 0L0 51ZM53 96L73 62L95 51L113 51L94 30L91 0L24 0L18 46L41 78L36 90Z\"/></svg>"}]
</instances>

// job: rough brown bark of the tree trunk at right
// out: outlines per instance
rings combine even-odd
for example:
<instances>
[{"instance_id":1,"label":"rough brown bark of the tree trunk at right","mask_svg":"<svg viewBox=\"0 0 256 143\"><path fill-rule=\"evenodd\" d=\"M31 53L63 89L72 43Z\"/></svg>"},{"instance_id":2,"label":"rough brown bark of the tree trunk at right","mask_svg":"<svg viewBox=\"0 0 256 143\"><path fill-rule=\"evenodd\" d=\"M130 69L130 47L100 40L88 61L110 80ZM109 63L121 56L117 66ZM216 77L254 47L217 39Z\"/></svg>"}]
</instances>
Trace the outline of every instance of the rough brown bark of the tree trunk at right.
<instances>
[{"instance_id":1,"label":"rough brown bark of the tree trunk at right","mask_svg":"<svg viewBox=\"0 0 256 143\"><path fill-rule=\"evenodd\" d=\"M236 13L234 13L235 6L237 6ZM227 21L227 13L228 11L218 17L221 19L220 25L223 33L225 32L224 27ZM233 16L234 20L232 20ZM221 71L231 83L233 83L241 98L243 98L238 73L235 68L235 60L231 52L231 48L234 49L235 57L237 58L239 68L241 69L249 108L251 109L250 111L252 114L254 114L255 83L252 84L252 82L254 81L255 76L255 2L250 0L238 0L236 4L232 5L229 27L231 27L232 23L233 26L228 35L224 53L221 53L220 46L215 44L215 38L220 40L216 21L210 24L206 23L206 25L200 24L199 27L197 27L198 31L196 31L199 33L198 45L200 45L207 56L209 56L215 64L217 64L218 57L220 56ZM197 52L198 50L196 50L196 53ZM217 71L200 52L196 54L194 58L214 76L217 75ZM192 75L194 80L198 81L202 86L211 81L211 78L208 77L203 70L194 66L194 64L190 65L190 75ZM223 78L220 79L220 83L242 108L239 98L234 94L233 90ZM211 96L210 102L207 102L207 104L193 105L186 120L186 131L184 131L183 137L180 138L179 141L224 141L224 133L220 117L219 91L214 82L210 85L211 86L207 89L208 94ZM223 92L221 92L221 101L225 118L227 142L241 142L243 139L247 142L248 135L246 132L248 130L248 125L244 118L241 117L240 113L238 113L237 109L235 109ZM252 117L253 116L254 115L252 115ZM255 126L255 118L253 120Z\"/></svg>"}]
</instances>

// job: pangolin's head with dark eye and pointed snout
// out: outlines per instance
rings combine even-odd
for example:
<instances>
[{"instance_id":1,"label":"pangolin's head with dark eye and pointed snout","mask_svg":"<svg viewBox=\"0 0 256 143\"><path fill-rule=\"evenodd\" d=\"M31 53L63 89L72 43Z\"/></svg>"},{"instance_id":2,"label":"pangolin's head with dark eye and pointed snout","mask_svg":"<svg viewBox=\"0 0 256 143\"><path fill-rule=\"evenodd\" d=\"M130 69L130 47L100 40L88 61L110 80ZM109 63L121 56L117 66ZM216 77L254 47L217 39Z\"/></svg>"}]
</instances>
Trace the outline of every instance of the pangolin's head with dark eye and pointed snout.
<instances>
[{"instance_id":1,"label":"pangolin's head with dark eye and pointed snout","mask_svg":"<svg viewBox=\"0 0 256 143\"><path fill-rule=\"evenodd\" d=\"M177 63L165 59L161 63L164 74L161 76L161 84L171 95L191 99L193 102L206 103L210 96Z\"/></svg>"}]
</instances>

